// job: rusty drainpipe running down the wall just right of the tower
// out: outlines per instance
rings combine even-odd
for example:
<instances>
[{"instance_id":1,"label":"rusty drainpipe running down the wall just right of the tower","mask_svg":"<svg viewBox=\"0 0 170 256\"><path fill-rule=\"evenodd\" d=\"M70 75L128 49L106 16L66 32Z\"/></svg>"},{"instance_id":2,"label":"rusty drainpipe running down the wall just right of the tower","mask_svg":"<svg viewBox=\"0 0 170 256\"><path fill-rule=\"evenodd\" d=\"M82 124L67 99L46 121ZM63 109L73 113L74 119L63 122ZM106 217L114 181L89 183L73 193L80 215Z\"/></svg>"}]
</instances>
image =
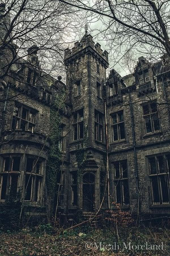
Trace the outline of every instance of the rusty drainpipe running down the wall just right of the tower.
<instances>
[{"instance_id":1,"label":"rusty drainpipe running down the wall just right of the tower","mask_svg":"<svg viewBox=\"0 0 170 256\"><path fill-rule=\"evenodd\" d=\"M108 130L107 130L107 112L106 112L106 98L104 98L105 102L105 127L106 127L106 172L107 172L107 190L108 190L108 208L110 209L110 186L109 186L109 138L108 138Z\"/></svg>"}]
</instances>

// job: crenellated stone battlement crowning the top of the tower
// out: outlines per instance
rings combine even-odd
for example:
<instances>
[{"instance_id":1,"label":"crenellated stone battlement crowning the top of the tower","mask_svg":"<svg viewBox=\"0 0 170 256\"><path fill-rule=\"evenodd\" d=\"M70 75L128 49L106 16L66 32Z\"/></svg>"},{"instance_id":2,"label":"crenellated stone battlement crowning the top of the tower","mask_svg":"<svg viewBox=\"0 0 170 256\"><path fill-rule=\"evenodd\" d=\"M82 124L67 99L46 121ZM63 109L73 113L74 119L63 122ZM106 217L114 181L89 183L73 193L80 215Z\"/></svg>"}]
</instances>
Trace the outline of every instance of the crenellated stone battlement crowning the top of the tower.
<instances>
[{"instance_id":1,"label":"crenellated stone battlement crowning the top of the tower","mask_svg":"<svg viewBox=\"0 0 170 256\"><path fill-rule=\"evenodd\" d=\"M100 55L103 59L105 59L105 61L109 61L108 59L108 52L105 50L103 51L101 49L101 45L99 43L94 43L93 41L93 37L88 34L87 32L84 34L84 36L82 37L82 39L77 42L75 42L74 47L72 49L65 49L65 55L64 58L69 59L71 56L75 55L76 53L82 51L83 49L89 47L94 49L94 51Z\"/></svg>"}]
</instances>

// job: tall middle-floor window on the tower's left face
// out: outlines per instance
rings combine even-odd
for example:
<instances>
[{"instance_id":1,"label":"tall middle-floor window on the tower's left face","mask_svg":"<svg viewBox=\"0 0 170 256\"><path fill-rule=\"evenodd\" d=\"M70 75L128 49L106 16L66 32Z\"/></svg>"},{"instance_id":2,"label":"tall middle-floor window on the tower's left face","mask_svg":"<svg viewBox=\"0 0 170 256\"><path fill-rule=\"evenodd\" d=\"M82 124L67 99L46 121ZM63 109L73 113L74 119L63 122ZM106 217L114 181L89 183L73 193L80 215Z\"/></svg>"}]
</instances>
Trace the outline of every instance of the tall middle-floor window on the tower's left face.
<instances>
[{"instance_id":1,"label":"tall middle-floor window on the tower's left face","mask_svg":"<svg viewBox=\"0 0 170 256\"><path fill-rule=\"evenodd\" d=\"M73 118L73 141L84 137L83 109L74 113Z\"/></svg>"}]
</instances>

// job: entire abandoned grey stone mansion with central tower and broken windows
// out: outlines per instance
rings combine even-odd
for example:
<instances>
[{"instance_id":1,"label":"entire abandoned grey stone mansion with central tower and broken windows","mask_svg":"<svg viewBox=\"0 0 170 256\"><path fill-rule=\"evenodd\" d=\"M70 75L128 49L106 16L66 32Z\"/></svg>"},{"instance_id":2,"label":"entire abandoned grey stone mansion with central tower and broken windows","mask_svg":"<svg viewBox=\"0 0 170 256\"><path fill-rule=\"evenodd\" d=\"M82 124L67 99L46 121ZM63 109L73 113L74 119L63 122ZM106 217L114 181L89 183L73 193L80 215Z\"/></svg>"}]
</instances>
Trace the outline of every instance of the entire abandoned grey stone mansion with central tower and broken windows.
<instances>
[{"instance_id":1,"label":"entire abandoned grey stone mansion with central tower and broken windows","mask_svg":"<svg viewBox=\"0 0 170 256\"><path fill-rule=\"evenodd\" d=\"M28 53L0 82L0 204L20 190L27 213L46 208L50 110L64 91L58 212L118 203L135 214L169 214L169 58L153 64L141 56L134 73L121 77L112 69L107 77L108 53L86 32L65 50L63 83L40 72L36 46Z\"/></svg>"}]
</instances>

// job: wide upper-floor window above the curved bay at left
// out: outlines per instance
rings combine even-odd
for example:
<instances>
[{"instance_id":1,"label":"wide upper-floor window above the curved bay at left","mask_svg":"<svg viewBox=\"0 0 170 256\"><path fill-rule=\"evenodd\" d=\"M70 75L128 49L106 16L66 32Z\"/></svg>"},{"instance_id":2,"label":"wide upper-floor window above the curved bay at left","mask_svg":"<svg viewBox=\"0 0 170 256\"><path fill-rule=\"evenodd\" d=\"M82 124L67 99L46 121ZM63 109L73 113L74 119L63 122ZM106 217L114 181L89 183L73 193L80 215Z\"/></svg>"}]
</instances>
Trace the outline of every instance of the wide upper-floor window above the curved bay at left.
<instances>
[{"instance_id":1,"label":"wide upper-floor window above the curved bay at left","mask_svg":"<svg viewBox=\"0 0 170 256\"><path fill-rule=\"evenodd\" d=\"M22 129L33 133L35 128L35 110L23 105L15 104L12 118L12 130Z\"/></svg>"}]
</instances>

